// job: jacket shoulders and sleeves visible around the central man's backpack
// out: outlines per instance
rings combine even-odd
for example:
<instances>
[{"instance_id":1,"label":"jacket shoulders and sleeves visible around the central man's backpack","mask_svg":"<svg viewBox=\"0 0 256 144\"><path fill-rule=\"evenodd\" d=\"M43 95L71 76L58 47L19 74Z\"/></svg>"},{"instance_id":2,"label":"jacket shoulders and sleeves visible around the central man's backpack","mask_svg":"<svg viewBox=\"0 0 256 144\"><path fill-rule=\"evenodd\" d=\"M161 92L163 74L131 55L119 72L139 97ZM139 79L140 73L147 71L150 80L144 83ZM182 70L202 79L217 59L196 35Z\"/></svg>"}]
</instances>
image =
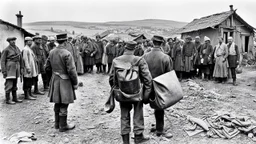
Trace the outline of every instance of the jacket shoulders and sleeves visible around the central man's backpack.
<instances>
[{"instance_id":1,"label":"jacket shoulders and sleeves visible around the central man's backpack","mask_svg":"<svg viewBox=\"0 0 256 144\"><path fill-rule=\"evenodd\" d=\"M132 62L133 61L133 57L135 57L133 55L133 53L130 52L124 52L124 54L122 56L119 56L117 58L115 58L113 60L113 64L112 64L112 72L110 75L110 84L114 84L114 82L117 82L117 80L114 80L114 77L117 78L117 76L115 75L115 65L117 61L125 61L125 62ZM149 101L149 95L151 93L151 87L152 87L152 77L151 74L149 72L148 69L148 65L146 63L146 61L142 58L140 59L140 61L138 62L138 67L139 67L139 76L140 76L140 80L143 84L143 101L144 102L148 102ZM116 84L117 85L117 84Z\"/></svg>"}]
</instances>

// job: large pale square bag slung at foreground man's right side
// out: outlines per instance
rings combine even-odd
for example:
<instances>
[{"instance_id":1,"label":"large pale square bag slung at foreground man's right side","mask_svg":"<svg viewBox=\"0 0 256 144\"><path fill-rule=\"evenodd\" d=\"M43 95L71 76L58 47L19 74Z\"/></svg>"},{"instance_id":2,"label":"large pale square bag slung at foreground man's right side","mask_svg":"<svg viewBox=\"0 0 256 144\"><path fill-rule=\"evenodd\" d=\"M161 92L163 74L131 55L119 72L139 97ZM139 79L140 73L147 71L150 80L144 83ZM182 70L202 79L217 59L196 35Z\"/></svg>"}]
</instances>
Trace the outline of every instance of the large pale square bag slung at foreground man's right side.
<instances>
[{"instance_id":1,"label":"large pale square bag slung at foreground man's right side","mask_svg":"<svg viewBox=\"0 0 256 144\"><path fill-rule=\"evenodd\" d=\"M166 109L183 98L183 91L175 71L170 71L153 79L153 98L150 107Z\"/></svg>"}]
</instances>

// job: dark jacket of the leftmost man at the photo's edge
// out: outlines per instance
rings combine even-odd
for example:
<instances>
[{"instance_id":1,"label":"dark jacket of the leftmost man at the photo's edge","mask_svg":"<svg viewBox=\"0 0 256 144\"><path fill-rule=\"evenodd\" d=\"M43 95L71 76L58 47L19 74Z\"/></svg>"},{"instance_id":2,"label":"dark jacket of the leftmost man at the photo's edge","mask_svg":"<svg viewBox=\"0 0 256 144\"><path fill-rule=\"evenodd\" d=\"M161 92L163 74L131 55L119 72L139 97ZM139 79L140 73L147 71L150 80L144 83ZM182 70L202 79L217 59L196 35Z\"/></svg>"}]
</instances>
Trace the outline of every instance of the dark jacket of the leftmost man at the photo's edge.
<instances>
[{"instance_id":1,"label":"dark jacket of the leftmost man at the photo's edge","mask_svg":"<svg viewBox=\"0 0 256 144\"><path fill-rule=\"evenodd\" d=\"M2 51L1 68L2 73L7 74L6 79L14 79L20 76L21 51L16 46L7 46Z\"/></svg>"}]
</instances>

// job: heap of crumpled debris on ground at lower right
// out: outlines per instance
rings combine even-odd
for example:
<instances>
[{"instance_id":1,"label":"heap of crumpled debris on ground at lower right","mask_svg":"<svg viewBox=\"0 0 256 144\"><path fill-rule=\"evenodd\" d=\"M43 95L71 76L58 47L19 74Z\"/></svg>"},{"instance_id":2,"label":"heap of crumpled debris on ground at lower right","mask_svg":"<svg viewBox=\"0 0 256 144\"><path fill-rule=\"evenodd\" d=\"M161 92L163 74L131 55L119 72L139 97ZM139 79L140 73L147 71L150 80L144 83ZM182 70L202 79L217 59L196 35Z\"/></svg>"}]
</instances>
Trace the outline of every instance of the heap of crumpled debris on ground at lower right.
<instances>
[{"instance_id":1,"label":"heap of crumpled debris on ground at lower right","mask_svg":"<svg viewBox=\"0 0 256 144\"><path fill-rule=\"evenodd\" d=\"M187 116L187 120L190 123L185 126L185 132L189 136L206 132L208 137L231 139L239 133L243 133L256 141L256 122L247 116L227 113L215 114L202 119Z\"/></svg>"}]
</instances>

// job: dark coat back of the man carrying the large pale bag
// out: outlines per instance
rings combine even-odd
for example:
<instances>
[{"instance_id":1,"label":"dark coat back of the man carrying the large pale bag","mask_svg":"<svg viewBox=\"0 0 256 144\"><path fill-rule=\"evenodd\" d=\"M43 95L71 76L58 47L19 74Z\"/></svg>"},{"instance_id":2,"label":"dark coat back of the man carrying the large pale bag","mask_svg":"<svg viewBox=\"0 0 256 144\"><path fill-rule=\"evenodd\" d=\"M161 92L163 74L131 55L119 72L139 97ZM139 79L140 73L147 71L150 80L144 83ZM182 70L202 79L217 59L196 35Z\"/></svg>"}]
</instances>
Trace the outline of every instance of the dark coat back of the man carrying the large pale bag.
<instances>
[{"instance_id":1,"label":"dark coat back of the man carrying the large pale bag","mask_svg":"<svg viewBox=\"0 0 256 144\"><path fill-rule=\"evenodd\" d=\"M152 78L167 73L173 69L171 57L163 53L160 48L153 48L144 55Z\"/></svg>"}]
</instances>

